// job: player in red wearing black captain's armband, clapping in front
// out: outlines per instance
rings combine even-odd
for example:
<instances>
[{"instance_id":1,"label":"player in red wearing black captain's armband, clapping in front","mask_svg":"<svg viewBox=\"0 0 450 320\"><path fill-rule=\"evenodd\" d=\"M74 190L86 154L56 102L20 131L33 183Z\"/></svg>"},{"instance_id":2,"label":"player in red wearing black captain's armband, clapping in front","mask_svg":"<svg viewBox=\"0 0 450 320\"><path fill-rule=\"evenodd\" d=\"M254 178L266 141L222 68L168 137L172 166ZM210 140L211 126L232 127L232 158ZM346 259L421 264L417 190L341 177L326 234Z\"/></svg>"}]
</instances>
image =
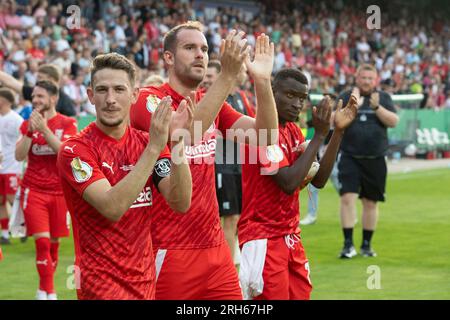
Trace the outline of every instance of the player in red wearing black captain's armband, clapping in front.
<instances>
[{"instance_id":1,"label":"player in red wearing black captain's armband, clapping in front","mask_svg":"<svg viewBox=\"0 0 450 320\"><path fill-rule=\"evenodd\" d=\"M67 140L58 157L72 214L79 299L154 299L149 208L157 201L178 213L190 206L189 166L174 152L184 149L183 138L170 141L172 157L167 142L169 133L190 128L193 102L181 101L172 114L172 100L164 97L147 132L131 128L135 76L119 54L94 59L88 95L97 119Z\"/></svg>"}]
</instances>

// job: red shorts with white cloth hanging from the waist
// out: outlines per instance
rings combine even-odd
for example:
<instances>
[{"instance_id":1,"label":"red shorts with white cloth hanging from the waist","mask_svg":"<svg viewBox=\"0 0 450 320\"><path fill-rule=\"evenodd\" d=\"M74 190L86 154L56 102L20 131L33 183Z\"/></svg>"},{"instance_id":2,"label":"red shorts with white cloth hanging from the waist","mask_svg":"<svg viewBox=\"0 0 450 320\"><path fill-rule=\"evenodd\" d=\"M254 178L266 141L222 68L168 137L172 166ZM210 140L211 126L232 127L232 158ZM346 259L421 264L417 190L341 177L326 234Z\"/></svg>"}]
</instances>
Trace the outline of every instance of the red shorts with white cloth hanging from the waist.
<instances>
[{"instance_id":1,"label":"red shorts with white cloth hanging from the waist","mask_svg":"<svg viewBox=\"0 0 450 320\"><path fill-rule=\"evenodd\" d=\"M239 278L244 298L309 300L309 263L298 235L244 243Z\"/></svg>"}]
</instances>

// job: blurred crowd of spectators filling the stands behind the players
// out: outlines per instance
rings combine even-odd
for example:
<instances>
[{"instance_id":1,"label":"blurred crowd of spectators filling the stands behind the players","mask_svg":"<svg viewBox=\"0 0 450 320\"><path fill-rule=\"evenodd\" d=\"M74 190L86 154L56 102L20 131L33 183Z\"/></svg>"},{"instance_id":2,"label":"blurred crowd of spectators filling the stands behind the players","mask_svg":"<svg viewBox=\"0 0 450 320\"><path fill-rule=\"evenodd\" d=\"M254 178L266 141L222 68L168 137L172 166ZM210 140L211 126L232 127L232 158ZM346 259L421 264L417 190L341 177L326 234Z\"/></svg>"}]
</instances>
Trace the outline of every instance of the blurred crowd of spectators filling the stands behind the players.
<instances>
[{"instance_id":1,"label":"blurred crowd of spectators filling the stands behind the players","mask_svg":"<svg viewBox=\"0 0 450 320\"><path fill-rule=\"evenodd\" d=\"M207 10L198 1L82 0L77 1L79 27L68 28L74 22L67 13L72 3L3 1L0 70L34 85L40 64L58 65L61 86L74 100L77 114L95 112L86 94L93 57L118 52L140 68L141 83L151 74L166 78L162 37L187 20L206 26L210 59L232 28L245 31L250 44L259 34L269 34L275 44L274 72L301 67L311 75L312 93L347 89L356 66L369 62L377 67L387 92L424 93L421 107L450 107L450 25L444 11L418 16L412 7L397 10L393 2L386 13L381 9L382 28L369 30L366 6L345 6L344 0L332 5L288 1L283 6L260 1L255 13L237 7ZM27 103L22 100L19 107Z\"/></svg>"}]
</instances>

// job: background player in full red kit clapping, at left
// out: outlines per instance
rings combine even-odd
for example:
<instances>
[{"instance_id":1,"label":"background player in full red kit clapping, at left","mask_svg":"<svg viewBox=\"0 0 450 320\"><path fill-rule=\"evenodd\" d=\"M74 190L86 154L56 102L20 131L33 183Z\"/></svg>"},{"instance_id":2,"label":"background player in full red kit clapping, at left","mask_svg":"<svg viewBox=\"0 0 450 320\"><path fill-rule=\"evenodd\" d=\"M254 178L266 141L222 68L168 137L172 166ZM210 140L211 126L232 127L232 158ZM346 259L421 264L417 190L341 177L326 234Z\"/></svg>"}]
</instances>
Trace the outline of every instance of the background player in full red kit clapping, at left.
<instances>
[{"instance_id":1,"label":"background player in full red kit clapping, at left","mask_svg":"<svg viewBox=\"0 0 450 320\"><path fill-rule=\"evenodd\" d=\"M21 207L28 235L36 243L36 267L39 289L36 298L55 300L53 276L58 264L59 238L69 236L67 206L64 200L56 156L62 141L76 134L73 118L56 112L58 87L50 81L38 81L33 89L33 112L20 127L22 137L15 157L28 166L21 185Z\"/></svg>"}]
</instances>

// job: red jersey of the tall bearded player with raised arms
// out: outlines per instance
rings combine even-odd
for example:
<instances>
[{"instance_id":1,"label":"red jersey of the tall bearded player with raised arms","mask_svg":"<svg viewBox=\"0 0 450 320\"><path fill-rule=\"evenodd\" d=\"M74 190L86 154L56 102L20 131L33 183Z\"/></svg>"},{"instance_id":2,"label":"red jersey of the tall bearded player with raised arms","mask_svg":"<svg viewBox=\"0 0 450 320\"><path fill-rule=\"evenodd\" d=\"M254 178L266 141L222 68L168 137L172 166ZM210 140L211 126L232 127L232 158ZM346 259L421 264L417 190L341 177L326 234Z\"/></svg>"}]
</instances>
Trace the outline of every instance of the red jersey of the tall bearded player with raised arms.
<instances>
[{"instance_id":1,"label":"red jersey of the tall bearded player with raised arms","mask_svg":"<svg viewBox=\"0 0 450 320\"><path fill-rule=\"evenodd\" d=\"M198 90L196 101L204 92ZM161 87L141 88L138 101L131 106L131 125L148 131L152 113L160 99L172 97L172 107L176 110L183 96L168 84ZM203 135L202 141L186 146L185 154L192 175L192 204L185 214L174 213L160 195L155 196L153 206L152 239L156 248L193 249L211 248L225 241L220 226L219 208L215 190L214 158L218 128L225 136L225 130L242 116L229 104L224 103L211 127Z\"/></svg>"}]
</instances>

